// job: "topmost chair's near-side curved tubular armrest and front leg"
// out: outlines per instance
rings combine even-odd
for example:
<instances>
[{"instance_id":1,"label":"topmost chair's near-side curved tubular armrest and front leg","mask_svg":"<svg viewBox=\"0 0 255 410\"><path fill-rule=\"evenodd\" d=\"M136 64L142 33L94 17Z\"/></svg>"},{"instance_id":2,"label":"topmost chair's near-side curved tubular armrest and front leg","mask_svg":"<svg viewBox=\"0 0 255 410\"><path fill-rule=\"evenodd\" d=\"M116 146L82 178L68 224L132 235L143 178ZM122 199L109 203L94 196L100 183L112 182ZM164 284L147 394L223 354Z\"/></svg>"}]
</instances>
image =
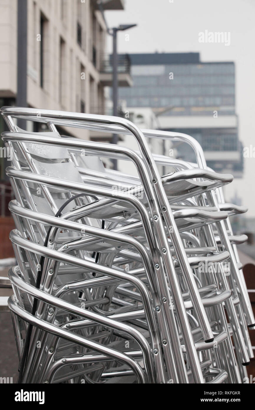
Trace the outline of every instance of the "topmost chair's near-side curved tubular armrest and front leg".
<instances>
[{"instance_id":1,"label":"topmost chair's near-side curved tubular armrest and front leg","mask_svg":"<svg viewBox=\"0 0 255 410\"><path fill-rule=\"evenodd\" d=\"M15 109L16 112L18 112L19 114L25 114L25 115L37 115L38 116L38 110L33 110L33 109L23 109L23 108L16 108ZM6 113L9 113L11 111L11 109L2 109L2 113L5 115ZM161 213L159 212L159 209L156 205L157 200L158 200L158 204L162 207L162 209L165 209L165 214L163 216L163 218L166 221L168 230L169 230L169 235L170 237L172 237L172 241L173 241L173 245L176 248L176 253L178 255L179 258L179 262L180 265L182 267L183 270L183 274L185 275L185 279L187 281L187 285L190 289L190 294L191 294L191 298L193 300L194 303L194 309L196 310L196 314L199 318L199 321L201 323L201 328L203 329L203 333L204 333L204 338L205 340L209 340L213 337L212 335L212 331L210 329L209 326L209 321L208 318L206 316L205 310L203 308L203 305L201 303L201 299L199 298L199 293L197 292L197 288L196 288L196 284L194 281L194 277L192 275L192 271L190 269L190 266L188 264L187 261L187 257L186 254L183 250L183 245L181 242L181 238L179 237L178 234L178 230L176 228L176 224L174 222L174 218L172 216L172 212L171 212L171 208L169 206L165 191L162 187L161 181L160 181L160 175L158 174L158 171L156 169L156 164L153 161L153 157L150 154L149 151L149 147L147 145L146 139L144 138L144 135L142 134L142 132L130 121L126 121L123 118L117 118L117 117L104 117L104 116L91 116L91 115L87 115L87 114L71 114L71 113L64 113L64 112L50 112L47 110L40 110L40 116L46 115L49 118L62 118L62 119L74 119L74 120L79 120L79 121L91 121L91 122L97 122L97 123L102 123L102 124L113 124L113 125L120 125L121 127L125 128L126 130L129 130L129 132L131 132L133 134L133 136L135 137L135 139L138 142L138 145L140 147L140 151L142 154L142 157L145 160L145 164L147 165L147 171L149 172L149 174L151 175L151 181L156 181L154 182L151 186L148 186L148 181L146 180L142 180L142 183L144 185L144 187L147 187L147 189L149 190L150 194L151 194L151 199L153 201L153 207L156 211L156 215L157 215L157 219L156 223L154 223L154 226L156 228L156 231L159 234L159 239L161 238L162 240L162 248L166 249L167 252L166 253L162 253L162 259L164 260L165 264L166 264L166 271L171 272L172 276L174 275L174 267L172 265L172 260L171 260L171 253L169 252L169 248L168 248L168 244L167 244L167 240L166 237L162 236L162 230L163 230L163 225L162 225L162 220L161 220ZM67 140L65 140L67 141ZM71 140L70 140L71 141ZM45 143L45 141L43 141ZM84 142L84 141L83 141ZM155 196L156 195L156 196ZM157 199L156 199L157 198ZM167 212L166 212L167 211ZM172 232L172 227L175 228L173 229ZM170 229L171 228L171 229ZM164 232L165 234L165 232ZM161 248L161 249L162 249ZM180 316L180 321L181 321L181 326L183 327L183 331L186 334L185 337L187 339L187 344L189 344L190 348L190 354L192 355L192 362L194 361L194 364L196 362L197 364L197 360L196 360L196 355L194 352L194 346L192 347L192 339L191 339L191 335L189 334L189 332L187 333L187 326L188 326L188 321L187 321L187 316L183 310L183 306L182 306L182 301L180 298L180 294L178 294L178 287L176 288L177 285L177 278L174 277L172 278L169 274L168 274L168 279L170 281L170 283L172 284L171 288L172 288L172 292L174 294L174 298L175 303L178 305L177 309L179 311L179 316ZM177 297L178 296L178 297ZM187 325L186 327L184 326L184 323ZM192 364L193 366L193 364ZM196 367L196 366L194 366ZM198 375L197 375L198 376ZM197 377L195 376L195 377ZM201 376L201 374L200 374ZM199 378L199 377L198 377ZM200 377L201 378L201 377Z\"/></svg>"}]
</instances>

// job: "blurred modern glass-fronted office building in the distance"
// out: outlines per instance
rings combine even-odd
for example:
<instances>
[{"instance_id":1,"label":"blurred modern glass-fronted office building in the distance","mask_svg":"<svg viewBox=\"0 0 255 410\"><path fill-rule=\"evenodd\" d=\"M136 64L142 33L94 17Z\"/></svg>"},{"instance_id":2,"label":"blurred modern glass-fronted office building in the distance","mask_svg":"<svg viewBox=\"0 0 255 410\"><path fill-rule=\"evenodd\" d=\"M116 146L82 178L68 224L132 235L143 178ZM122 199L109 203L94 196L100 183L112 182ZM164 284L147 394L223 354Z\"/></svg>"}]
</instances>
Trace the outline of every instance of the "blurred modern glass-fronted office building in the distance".
<instances>
[{"instance_id":1,"label":"blurred modern glass-fronted office building in the distance","mask_svg":"<svg viewBox=\"0 0 255 410\"><path fill-rule=\"evenodd\" d=\"M162 130L201 144L208 166L241 176L242 146L235 113L235 64L200 61L199 53L131 54L134 86L119 89L127 107L151 107ZM130 108L131 109L131 108ZM179 157L194 159L182 144Z\"/></svg>"}]
</instances>

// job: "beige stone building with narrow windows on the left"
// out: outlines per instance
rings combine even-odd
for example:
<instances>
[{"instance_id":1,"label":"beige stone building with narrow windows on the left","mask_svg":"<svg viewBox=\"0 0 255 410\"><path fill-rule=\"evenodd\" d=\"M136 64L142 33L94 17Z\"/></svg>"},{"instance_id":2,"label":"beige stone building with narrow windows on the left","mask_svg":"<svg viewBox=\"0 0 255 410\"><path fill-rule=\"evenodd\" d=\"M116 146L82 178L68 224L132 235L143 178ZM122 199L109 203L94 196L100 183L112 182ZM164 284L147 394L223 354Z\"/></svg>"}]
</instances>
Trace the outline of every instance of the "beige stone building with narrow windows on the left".
<instances>
[{"instance_id":1,"label":"beige stone building with narrow windows on the left","mask_svg":"<svg viewBox=\"0 0 255 410\"><path fill-rule=\"evenodd\" d=\"M27 7L27 105L104 114L112 67L97 1L27 0ZM124 9L123 0L106 0L104 9ZM129 86L125 67L119 84ZM0 105L15 105L16 92L17 0L0 0ZM89 138L81 130L73 135Z\"/></svg>"}]
</instances>

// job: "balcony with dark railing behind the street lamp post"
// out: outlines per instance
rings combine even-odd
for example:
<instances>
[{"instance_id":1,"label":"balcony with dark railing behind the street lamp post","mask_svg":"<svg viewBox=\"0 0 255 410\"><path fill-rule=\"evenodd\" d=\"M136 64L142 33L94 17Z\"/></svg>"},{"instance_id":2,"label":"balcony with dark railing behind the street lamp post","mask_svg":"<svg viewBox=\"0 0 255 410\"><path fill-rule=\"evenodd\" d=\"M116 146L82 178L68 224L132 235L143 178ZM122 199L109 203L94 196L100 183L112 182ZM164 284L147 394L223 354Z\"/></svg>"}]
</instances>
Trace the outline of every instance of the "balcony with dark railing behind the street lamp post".
<instances>
[{"instance_id":1,"label":"balcony with dark railing behind the street lamp post","mask_svg":"<svg viewBox=\"0 0 255 410\"><path fill-rule=\"evenodd\" d=\"M106 87L111 87L113 84L113 65L112 55L103 55L99 67L100 82ZM130 59L129 55L118 55L118 86L131 87L133 81L130 75Z\"/></svg>"}]
</instances>

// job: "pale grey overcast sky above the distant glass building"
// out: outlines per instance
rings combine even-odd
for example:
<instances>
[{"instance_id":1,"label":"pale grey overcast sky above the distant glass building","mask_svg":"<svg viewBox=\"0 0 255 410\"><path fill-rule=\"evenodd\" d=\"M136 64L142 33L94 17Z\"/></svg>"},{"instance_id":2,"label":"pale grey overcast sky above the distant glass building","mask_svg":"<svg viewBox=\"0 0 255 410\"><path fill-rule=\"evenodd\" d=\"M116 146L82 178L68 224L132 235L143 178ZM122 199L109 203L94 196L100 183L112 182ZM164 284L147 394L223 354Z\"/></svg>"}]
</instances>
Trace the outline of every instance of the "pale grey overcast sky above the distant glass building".
<instances>
[{"instance_id":1,"label":"pale grey overcast sky above the distant glass building","mask_svg":"<svg viewBox=\"0 0 255 410\"><path fill-rule=\"evenodd\" d=\"M255 0L126 0L125 10L107 11L106 20L109 27L138 24L118 33L118 52L200 52L203 62L234 61L239 139L255 147ZM205 30L229 32L230 45L200 43ZM255 158L244 159L244 166L244 179L227 192L236 190L255 216Z\"/></svg>"}]
</instances>

